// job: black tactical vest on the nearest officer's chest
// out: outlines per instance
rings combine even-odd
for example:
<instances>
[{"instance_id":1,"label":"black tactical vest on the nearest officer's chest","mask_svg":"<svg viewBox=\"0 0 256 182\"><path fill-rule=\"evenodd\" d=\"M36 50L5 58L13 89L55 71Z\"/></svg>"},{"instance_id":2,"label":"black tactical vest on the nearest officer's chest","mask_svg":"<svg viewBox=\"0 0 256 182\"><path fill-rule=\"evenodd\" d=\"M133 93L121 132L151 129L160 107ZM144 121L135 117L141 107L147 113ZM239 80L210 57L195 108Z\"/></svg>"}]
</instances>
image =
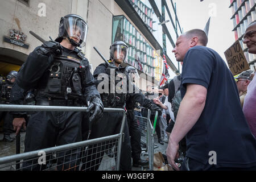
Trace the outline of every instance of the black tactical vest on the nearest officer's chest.
<instances>
[{"instance_id":1,"label":"black tactical vest on the nearest officer's chest","mask_svg":"<svg viewBox=\"0 0 256 182\"><path fill-rule=\"evenodd\" d=\"M36 98L82 99L82 80L85 79L84 55L75 49L55 56L55 60L40 79ZM70 51L70 50L69 50Z\"/></svg>"}]
</instances>

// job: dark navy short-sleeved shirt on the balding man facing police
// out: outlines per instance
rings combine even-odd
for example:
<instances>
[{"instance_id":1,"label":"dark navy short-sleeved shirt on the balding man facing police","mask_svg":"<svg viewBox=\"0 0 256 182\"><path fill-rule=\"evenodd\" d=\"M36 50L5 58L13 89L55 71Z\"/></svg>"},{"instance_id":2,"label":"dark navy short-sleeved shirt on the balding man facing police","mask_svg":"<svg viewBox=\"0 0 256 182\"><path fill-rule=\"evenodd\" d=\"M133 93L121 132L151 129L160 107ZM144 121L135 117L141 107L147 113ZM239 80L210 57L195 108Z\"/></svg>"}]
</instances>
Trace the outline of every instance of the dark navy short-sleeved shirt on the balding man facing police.
<instances>
[{"instance_id":1,"label":"dark navy short-sleeved shirt on the balding man facing police","mask_svg":"<svg viewBox=\"0 0 256 182\"><path fill-rule=\"evenodd\" d=\"M196 46L187 52L181 75L181 97L186 84L207 88L205 107L187 133L187 156L216 167L256 166L256 140L242 113L236 82L224 60L213 49ZM212 158L211 158L212 159Z\"/></svg>"}]
</instances>

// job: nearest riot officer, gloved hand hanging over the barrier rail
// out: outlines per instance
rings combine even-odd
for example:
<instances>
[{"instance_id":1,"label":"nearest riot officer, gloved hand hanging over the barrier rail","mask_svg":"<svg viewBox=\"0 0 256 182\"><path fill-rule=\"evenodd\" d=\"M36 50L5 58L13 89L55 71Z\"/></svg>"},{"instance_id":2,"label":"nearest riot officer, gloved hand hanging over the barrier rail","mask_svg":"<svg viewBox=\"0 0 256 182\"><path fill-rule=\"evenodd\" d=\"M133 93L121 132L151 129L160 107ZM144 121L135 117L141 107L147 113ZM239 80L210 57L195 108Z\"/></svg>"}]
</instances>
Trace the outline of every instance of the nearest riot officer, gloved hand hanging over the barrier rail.
<instances>
[{"instance_id":1,"label":"nearest riot officer, gloved hand hanging over the barrier rail","mask_svg":"<svg viewBox=\"0 0 256 182\"><path fill-rule=\"evenodd\" d=\"M85 46L87 30L88 25L81 16L69 14L62 17L56 42L45 42L30 53L18 73L17 84L25 93L36 90L36 105L83 106L89 103L89 119L97 121L102 117L104 107L90 73L89 61L77 48ZM75 111L37 111L31 114L25 152L81 141L82 114ZM14 127L18 128L20 122L13 122ZM65 152L65 157L59 154L58 169L75 169L77 156L73 154L79 151L71 152L72 155ZM23 166L26 169L45 167L37 164L28 168L30 164L23 163Z\"/></svg>"}]
</instances>

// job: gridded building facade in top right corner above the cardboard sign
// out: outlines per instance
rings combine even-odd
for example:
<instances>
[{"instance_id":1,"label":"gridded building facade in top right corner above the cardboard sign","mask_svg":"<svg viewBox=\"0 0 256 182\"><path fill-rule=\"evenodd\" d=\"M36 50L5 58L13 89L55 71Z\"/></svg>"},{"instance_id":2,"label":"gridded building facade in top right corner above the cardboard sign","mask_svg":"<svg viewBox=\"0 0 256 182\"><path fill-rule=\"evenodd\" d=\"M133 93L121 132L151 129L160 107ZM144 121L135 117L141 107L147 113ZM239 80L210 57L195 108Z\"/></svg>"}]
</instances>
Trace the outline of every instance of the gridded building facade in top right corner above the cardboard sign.
<instances>
[{"instance_id":1,"label":"gridded building facade in top right corner above the cardboard sign","mask_svg":"<svg viewBox=\"0 0 256 182\"><path fill-rule=\"evenodd\" d=\"M248 53L246 44L242 43L246 28L256 20L256 0L230 0L230 8L232 10L234 36L236 40L239 40L251 70L256 70L256 55Z\"/></svg>"}]
</instances>

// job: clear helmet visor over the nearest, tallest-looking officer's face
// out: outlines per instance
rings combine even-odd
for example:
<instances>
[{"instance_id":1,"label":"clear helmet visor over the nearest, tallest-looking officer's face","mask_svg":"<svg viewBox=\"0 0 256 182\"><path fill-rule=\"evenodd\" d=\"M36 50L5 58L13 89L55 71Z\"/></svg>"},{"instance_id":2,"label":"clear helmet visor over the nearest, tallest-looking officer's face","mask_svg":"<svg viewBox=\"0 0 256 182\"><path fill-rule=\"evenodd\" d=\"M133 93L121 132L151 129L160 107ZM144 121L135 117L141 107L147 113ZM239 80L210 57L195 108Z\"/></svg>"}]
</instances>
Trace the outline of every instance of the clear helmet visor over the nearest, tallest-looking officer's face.
<instances>
[{"instance_id":1,"label":"clear helmet visor over the nearest, tallest-looking officer's face","mask_svg":"<svg viewBox=\"0 0 256 182\"><path fill-rule=\"evenodd\" d=\"M88 25L84 20L75 17L65 18L64 28L69 38L77 43L81 43L81 47L85 46Z\"/></svg>"}]
</instances>

